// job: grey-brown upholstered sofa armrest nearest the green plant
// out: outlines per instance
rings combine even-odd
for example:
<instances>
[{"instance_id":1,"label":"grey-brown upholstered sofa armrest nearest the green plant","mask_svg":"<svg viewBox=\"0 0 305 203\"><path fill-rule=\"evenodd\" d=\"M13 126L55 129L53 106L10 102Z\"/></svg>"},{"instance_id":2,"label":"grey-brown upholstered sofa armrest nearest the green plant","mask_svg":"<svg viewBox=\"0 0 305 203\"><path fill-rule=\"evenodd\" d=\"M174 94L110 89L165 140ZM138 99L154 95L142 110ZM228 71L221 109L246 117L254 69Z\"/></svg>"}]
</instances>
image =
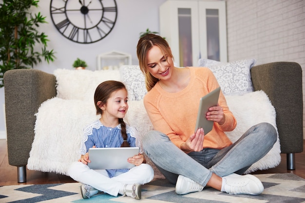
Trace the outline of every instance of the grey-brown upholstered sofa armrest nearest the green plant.
<instances>
[{"instance_id":1,"label":"grey-brown upholstered sofa armrest nearest the green plant","mask_svg":"<svg viewBox=\"0 0 305 203\"><path fill-rule=\"evenodd\" d=\"M34 139L38 108L56 96L54 75L36 69L8 70L3 75L8 161L25 166Z\"/></svg>"}]
</instances>

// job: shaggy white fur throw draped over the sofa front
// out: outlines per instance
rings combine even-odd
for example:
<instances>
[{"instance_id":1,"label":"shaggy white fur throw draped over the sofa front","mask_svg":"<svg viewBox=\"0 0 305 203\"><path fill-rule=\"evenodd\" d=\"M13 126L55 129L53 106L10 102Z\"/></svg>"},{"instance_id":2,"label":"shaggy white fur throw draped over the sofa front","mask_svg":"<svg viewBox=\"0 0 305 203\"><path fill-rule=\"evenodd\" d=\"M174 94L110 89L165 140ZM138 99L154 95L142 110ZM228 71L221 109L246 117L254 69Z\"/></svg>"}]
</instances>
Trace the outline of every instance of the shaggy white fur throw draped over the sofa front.
<instances>
[{"instance_id":1,"label":"shaggy white fur throw draped over the sofa front","mask_svg":"<svg viewBox=\"0 0 305 203\"><path fill-rule=\"evenodd\" d=\"M238 139L250 126L259 122L269 122L276 127L274 107L263 91L226 98L238 123L236 129L228 133L232 141ZM99 118L95 115L93 103L52 98L41 104L36 116L35 138L27 168L68 175L69 164L80 157L78 150L83 128ZM142 100L129 101L126 121L136 127L141 135L153 129ZM278 140L271 151L253 164L247 173L257 169L276 167L280 161ZM153 168L156 171L154 166ZM158 175L160 174L155 174L155 178L159 178Z\"/></svg>"}]
</instances>

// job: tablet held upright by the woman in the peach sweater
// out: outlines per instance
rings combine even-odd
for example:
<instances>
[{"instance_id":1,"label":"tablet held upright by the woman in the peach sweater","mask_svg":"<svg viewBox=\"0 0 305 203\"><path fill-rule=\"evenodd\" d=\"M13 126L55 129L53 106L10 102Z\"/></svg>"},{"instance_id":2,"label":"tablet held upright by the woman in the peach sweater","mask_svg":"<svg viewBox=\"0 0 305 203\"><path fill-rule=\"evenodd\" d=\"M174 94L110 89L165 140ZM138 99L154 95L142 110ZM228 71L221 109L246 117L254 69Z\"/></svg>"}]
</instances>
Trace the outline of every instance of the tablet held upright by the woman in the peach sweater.
<instances>
[{"instance_id":1,"label":"tablet held upright by the woman in the peach sweater","mask_svg":"<svg viewBox=\"0 0 305 203\"><path fill-rule=\"evenodd\" d=\"M209 94L200 98L195 132L199 128L203 128L205 135L207 135L212 130L214 121L207 120L206 116L210 107L217 106L219 93L220 93L220 87L217 87Z\"/></svg>"}]
</instances>

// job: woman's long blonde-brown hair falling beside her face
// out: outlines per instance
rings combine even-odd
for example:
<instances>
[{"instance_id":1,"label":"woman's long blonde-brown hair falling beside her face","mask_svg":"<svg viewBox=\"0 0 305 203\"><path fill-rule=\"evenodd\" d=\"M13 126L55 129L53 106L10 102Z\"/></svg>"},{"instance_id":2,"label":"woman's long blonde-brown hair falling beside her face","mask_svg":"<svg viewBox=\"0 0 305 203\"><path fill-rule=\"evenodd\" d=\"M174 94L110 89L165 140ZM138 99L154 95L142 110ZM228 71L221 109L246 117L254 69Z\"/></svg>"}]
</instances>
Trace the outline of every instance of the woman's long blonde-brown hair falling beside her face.
<instances>
[{"instance_id":1,"label":"woman's long blonde-brown hair falling beside her face","mask_svg":"<svg viewBox=\"0 0 305 203\"><path fill-rule=\"evenodd\" d=\"M173 58L169 44L161 36L156 34L146 34L139 39L136 46L136 55L139 60L140 69L145 76L145 85L147 91L150 91L159 80L153 77L147 68L147 53L153 46L158 46L163 52L165 58Z\"/></svg>"}]
</instances>

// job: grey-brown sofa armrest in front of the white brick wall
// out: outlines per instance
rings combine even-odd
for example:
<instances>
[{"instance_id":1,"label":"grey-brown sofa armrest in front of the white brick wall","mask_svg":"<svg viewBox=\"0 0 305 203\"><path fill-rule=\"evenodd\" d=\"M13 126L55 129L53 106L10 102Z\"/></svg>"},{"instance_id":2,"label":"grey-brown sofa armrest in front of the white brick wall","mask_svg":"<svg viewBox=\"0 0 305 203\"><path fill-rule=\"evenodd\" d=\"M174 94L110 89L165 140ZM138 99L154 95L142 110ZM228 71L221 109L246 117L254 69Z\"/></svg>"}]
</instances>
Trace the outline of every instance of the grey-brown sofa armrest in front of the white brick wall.
<instances>
[{"instance_id":1,"label":"grey-brown sofa armrest in front of the white brick wall","mask_svg":"<svg viewBox=\"0 0 305 203\"><path fill-rule=\"evenodd\" d=\"M282 153L303 152L302 68L275 62L251 68L254 90L263 90L276 111Z\"/></svg>"}]
</instances>

